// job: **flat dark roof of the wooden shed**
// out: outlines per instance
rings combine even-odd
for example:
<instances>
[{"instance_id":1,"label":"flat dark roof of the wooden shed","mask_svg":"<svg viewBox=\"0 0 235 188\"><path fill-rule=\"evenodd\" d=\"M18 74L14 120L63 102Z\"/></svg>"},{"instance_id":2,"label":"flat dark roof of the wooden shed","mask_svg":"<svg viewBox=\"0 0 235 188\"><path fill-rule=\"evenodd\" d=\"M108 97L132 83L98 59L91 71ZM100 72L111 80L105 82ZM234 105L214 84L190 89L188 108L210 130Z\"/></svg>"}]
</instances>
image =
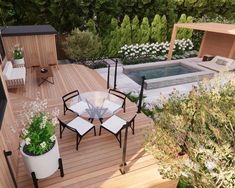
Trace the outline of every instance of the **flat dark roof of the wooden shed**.
<instances>
[{"instance_id":1,"label":"flat dark roof of the wooden shed","mask_svg":"<svg viewBox=\"0 0 235 188\"><path fill-rule=\"evenodd\" d=\"M51 25L22 25L0 27L2 36L19 36L19 35L48 35L56 34L57 31Z\"/></svg>"}]
</instances>

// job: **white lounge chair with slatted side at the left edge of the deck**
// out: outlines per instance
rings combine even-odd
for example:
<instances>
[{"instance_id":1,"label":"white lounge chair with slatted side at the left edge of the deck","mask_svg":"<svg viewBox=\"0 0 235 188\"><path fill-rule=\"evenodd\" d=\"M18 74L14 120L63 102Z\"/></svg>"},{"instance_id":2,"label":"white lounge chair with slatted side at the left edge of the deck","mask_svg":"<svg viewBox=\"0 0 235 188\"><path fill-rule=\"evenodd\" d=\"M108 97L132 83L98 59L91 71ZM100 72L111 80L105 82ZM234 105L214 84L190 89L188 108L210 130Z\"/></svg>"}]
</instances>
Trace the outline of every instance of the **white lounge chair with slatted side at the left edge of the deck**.
<instances>
[{"instance_id":1,"label":"white lounge chair with slatted side at the left edge of the deck","mask_svg":"<svg viewBox=\"0 0 235 188\"><path fill-rule=\"evenodd\" d=\"M10 61L7 61L3 69L3 78L7 88L18 88L25 86L26 68L24 66L14 68Z\"/></svg>"}]
</instances>

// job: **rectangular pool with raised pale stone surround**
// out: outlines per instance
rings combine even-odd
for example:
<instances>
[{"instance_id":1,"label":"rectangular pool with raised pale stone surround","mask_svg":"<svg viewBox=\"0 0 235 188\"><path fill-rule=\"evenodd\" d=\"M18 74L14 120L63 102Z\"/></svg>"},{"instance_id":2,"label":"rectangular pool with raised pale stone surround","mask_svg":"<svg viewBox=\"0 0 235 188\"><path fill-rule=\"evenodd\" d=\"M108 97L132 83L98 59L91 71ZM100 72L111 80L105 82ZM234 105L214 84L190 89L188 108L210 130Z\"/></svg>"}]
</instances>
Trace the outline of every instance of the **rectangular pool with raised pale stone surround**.
<instances>
[{"instance_id":1,"label":"rectangular pool with raised pale stone surround","mask_svg":"<svg viewBox=\"0 0 235 188\"><path fill-rule=\"evenodd\" d=\"M214 71L185 60L165 61L123 67L123 73L136 83L141 84L145 76L145 89L156 89L173 85L197 82L212 77Z\"/></svg>"}]
</instances>

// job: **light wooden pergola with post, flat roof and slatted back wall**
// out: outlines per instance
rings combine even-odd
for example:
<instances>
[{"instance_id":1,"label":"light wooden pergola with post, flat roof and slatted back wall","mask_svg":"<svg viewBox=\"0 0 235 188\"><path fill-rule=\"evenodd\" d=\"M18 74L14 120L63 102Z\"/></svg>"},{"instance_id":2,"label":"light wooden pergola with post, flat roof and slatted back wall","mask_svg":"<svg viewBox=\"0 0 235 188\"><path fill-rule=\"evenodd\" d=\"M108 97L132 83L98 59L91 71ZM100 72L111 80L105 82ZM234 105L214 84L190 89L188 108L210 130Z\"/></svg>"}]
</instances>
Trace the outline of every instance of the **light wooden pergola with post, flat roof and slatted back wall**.
<instances>
[{"instance_id":1,"label":"light wooden pergola with post, flat roof and slatted back wall","mask_svg":"<svg viewBox=\"0 0 235 188\"><path fill-rule=\"evenodd\" d=\"M210 54L235 59L235 24L185 23L174 25L167 56L168 60L172 58L177 30L180 28L204 31L198 57Z\"/></svg>"}]
</instances>

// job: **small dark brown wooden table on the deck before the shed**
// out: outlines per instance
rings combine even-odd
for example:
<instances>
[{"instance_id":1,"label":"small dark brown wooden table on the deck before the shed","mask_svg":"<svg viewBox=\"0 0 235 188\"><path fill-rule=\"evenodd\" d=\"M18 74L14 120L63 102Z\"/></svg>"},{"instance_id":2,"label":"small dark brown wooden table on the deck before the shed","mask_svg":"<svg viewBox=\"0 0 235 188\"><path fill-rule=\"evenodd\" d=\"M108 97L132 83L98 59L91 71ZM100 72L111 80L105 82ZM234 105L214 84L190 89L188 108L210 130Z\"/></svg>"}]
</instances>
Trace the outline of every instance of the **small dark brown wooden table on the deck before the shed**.
<instances>
[{"instance_id":1,"label":"small dark brown wooden table on the deck before the shed","mask_svg":"<svg viewBox=\"0 0 235 188\"><path fill-rule=\"evenodd\" d=\"M38 86L43 84L44 82L48 82L50 84L54 84L54 77L51 67L44 67L45 72L41 71L42 68L38 67L36 69L36 78L38 82ZM51 78L51 80L49 80Z\"/></svg>"}]
</instances>

